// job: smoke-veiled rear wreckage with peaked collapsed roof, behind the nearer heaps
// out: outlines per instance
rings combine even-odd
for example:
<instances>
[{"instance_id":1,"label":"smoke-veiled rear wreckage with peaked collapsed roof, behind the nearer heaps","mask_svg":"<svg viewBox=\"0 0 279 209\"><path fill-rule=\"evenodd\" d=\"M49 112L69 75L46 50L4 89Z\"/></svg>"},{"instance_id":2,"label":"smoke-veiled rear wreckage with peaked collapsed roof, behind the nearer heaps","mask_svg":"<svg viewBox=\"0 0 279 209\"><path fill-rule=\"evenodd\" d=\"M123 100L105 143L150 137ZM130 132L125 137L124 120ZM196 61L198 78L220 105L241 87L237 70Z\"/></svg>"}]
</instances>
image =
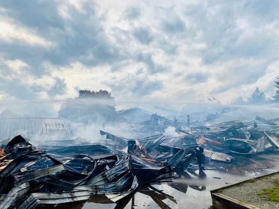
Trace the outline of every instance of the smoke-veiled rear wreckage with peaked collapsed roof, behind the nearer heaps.
<instances>
[{"instance_id":1,"label":"smoke-veiled rear wreckage with peaked collapsed roof, behind the nearer heaps","mask_svg":"<svg viewBox=\"0 0 279 209\"><path fill-rule=\"evenodd\" d=\"M176 114L169 117L163 117L134 107L128 110L118 111L116 115L115 127L121 129L122 136L152 136L164 133L167 127L176 127L178 129L189 128L190 125L201 125L210 121L217 120L219 114L208 112L194 112L189 115L177 115L179 112L156 107L156 109L174 112ZM192 122L190 123L190 118Z\"/></svg>"}]
</instances>

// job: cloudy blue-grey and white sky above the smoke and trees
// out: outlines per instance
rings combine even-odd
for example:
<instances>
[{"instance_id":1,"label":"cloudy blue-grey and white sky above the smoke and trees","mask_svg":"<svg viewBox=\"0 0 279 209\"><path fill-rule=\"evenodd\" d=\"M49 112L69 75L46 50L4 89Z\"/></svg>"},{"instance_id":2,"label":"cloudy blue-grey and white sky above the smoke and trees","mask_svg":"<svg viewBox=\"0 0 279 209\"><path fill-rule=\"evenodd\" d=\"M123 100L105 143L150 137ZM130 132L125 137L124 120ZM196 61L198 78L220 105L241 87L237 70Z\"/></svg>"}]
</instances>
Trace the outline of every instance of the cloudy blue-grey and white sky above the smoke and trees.
<instances>
[{"instance_id":1,"label":"cloudy blue-grey and white sky above the smoke and trees","mask_svg":"<svg viewBox=\"0 0 279 209\"><path fill-rule=\"evenodd\" d=\"M279 1L1 1L0 100L275 93Z\"/></svg>"}]
</instances>

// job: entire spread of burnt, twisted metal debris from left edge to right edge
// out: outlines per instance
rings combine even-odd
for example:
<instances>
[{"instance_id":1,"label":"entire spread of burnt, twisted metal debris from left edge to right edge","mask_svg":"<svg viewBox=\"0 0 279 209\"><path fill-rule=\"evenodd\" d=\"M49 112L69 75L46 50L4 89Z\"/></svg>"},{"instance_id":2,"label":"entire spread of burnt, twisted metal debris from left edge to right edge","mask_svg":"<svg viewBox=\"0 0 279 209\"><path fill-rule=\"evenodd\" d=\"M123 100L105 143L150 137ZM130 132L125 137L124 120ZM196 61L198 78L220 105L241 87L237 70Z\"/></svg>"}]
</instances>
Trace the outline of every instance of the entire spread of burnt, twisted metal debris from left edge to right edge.
<instances>
[{"instance_id":1,"label":"entire spread of burnt, twisted metal debris from left edge to right edge","mask_svg":"<svg viewBox=\"0 0 279 209\"><path fill-rule=\"evenodd\" d=\"M146 113L141 117L145 119ZM20 135L3 140L0 208L53 206L98 195L117 202L139 185L172 181L176 171L203 169L211 160L235 163L235 155L278 149L278 121L256 117L251 122L235 120L210 126L187 126L186 121L183 126L175 118L171 121L153 114L142 124L135 118L137 124L125 125L157 133L153 136L128 139L101 130L103 138L95 143L77 138L37 147ZM170 126L176 136L163 134Z\"/></svg>"}]
</instances>

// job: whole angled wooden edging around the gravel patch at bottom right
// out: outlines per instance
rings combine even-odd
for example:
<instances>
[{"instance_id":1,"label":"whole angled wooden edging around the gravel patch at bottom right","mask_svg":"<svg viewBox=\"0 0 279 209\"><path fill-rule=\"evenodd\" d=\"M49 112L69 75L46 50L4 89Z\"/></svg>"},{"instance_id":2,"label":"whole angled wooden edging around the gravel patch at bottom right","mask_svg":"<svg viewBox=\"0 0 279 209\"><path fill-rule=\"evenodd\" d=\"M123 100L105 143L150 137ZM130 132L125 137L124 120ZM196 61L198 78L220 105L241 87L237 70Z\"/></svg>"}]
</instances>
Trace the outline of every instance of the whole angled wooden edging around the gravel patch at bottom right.
<instances>
[{"instance_id":1,"label":"whole angled wooden edging around the gravel patch at bottom right","mask_svg":"<svg viewBox=\"0 0 279 209\"><path fill-rule=\"evenodd\" d=\"M230 208L230 209L260 209L260 208L257 208L256 206L250 205L250 204L242 202L242 201L238 201L236 199L233 199L232 197L228 197L226 195L223 195L223 194L220 194L220 193L217 193L217 192L219 190L222 190L222 189L226 189L226 188L229 188L229 187L233 187L235 185L242 184L242 183L247 182L249 180L260 179L264 176L269 176L269 175L273 175L273 174L277 174L277 173L279 173L279 172L273 172L273 173L270 173L270 174L266 174L266 175L263 175L263 176L253 178L253 179L240 181L240 182L237 182L235 184L231 184L231 185L224 186L224 187L221 187L221 188L218 188L218 189L210 190L213 207L216 208L216 209L226 209L226 208Z\"/></svg>"}]
</instances>

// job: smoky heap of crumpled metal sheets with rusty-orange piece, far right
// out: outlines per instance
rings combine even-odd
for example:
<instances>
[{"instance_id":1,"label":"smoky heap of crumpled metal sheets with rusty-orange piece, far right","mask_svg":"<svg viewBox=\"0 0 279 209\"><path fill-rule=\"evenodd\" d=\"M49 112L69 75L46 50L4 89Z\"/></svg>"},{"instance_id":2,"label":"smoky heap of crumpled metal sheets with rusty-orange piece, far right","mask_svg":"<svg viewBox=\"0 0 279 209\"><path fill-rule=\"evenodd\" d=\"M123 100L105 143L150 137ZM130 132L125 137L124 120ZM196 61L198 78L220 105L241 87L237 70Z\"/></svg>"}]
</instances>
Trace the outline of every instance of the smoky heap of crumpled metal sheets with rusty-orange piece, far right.
<instances>
[{"instance_id":1,"label":"smoky heap of crumpled metal sheets with rusty-orange piece, far right","mask_svg":"<svg viewBox=\"0 0 279 209\"><path fill-rule=\"evenodd\" d=\"M255 154L279 148L279 124L258 116L251 122L235 120L180 131L183 136L173 139L170 144L176 143L176 147L180 145L184 148L198 144L205 148L205 156L211 155L212 151Z\"/></svg>"}]
</instances>

